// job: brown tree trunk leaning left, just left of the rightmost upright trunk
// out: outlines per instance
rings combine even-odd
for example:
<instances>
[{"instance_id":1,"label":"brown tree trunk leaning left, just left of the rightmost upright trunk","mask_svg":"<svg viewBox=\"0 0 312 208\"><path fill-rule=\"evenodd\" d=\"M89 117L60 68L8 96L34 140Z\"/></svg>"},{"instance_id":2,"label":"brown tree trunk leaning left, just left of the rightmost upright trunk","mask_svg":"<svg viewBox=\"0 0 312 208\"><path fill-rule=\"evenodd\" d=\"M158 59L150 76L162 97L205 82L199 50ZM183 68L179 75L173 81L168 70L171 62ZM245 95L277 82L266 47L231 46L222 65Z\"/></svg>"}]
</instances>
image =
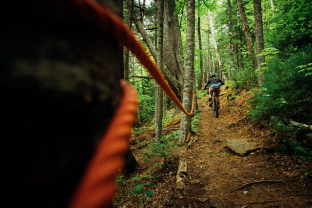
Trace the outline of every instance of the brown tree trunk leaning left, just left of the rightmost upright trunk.
<instances>
[{"instance_id":1,"label":"brown tree trunk leaning left, just left of the rightmost upright trunk","mask_svg":"<svg viewBox=\"0 0 312 208\"><path fill-rule=\"evenodd\" d=\"M247 49L249 53L249 63L252 68L255 68L256 65L255 65L255 56L254 56L254 43L252 40L252 36L250 34L249 25L247 22L245 11L244 11L244 6L242 3L242 0L236 0L236 2L237 2L238 13L243 24L243 30L244 30L245 38L247 42Z\"/></svg>"}]
</instances>

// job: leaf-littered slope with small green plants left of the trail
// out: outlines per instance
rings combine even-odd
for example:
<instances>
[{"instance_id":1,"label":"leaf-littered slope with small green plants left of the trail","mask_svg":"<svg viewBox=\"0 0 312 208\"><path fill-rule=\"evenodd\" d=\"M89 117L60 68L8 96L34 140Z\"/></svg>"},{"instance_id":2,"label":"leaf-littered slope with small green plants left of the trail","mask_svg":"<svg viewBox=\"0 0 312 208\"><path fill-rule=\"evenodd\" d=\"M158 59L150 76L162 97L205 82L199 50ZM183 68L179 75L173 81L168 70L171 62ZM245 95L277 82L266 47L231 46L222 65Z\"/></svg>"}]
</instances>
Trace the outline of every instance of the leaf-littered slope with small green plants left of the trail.
<instances>
[{"instance_id":1,"label":"leaf-littered slope with small green plants left of the trail","mask_svg":"<svg viewBox=\"0 0 312 208\"><path fill-rule=\"evenodd\" d=\"M138 166L136 172L128 178L121 174L117 177L119 187L114 200L115 207L147 207L172 200L178 159L186 151L186 147L178 143L181 113L174 112L175 109L171 109L164 114L163 137L157 143L154 142L155 119L134 129L130 147ZM190 136L195 135L199 119L200 113L196 113L192 118ZM135 187L141 184L142 190L136 193ZM153 192L153 196L149 195L151 198L144 193L146 190Z\"/></svg>"}]
</instances>

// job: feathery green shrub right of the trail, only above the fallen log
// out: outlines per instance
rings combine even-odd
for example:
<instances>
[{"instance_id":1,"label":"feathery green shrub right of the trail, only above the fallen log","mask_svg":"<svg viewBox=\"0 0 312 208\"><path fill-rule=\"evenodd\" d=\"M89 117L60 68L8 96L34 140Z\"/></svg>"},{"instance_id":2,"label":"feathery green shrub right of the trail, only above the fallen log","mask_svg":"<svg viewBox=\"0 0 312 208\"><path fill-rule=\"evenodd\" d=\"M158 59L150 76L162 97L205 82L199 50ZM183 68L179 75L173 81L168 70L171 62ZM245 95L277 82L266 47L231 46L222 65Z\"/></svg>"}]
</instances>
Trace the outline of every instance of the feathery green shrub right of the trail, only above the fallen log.
<instances>
[{"instance_id":1,"label":"feathery green shrub right of the trail, only above the fallen log","mask_svg":"<svg viewBox=\"0 0 312 208\"><path fill-rule=\"evenodd\" d=\"M284 62L281 58L273 58L263 88L255 100L254 120L278 115L311 122L312 77L305 76L297 67L311 63L311 54L312 48L307 47Z\"/></svg>"}]
</instances>

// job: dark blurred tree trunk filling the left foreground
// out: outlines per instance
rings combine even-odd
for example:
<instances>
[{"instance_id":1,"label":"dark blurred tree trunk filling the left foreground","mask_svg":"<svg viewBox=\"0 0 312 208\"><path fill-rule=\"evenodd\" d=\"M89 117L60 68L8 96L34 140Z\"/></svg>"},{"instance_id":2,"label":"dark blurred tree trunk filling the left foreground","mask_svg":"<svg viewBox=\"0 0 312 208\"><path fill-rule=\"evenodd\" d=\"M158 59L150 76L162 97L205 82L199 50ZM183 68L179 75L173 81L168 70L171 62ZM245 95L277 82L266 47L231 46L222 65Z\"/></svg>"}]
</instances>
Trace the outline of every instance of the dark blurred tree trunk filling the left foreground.
<instances>
[{"instance_id":1,"label":"dark blurred tree trunk filling the left foreground","mask_svg":"<svg viewBox=\"0 0 312 208\"><path fill-rule=\"evenodd\" d=\"M0 8L3 204L10 207L68 206L123 96L122 46L67 2ZM121 14L121 0L99 2Z\"/></svg>"}]
</instances>

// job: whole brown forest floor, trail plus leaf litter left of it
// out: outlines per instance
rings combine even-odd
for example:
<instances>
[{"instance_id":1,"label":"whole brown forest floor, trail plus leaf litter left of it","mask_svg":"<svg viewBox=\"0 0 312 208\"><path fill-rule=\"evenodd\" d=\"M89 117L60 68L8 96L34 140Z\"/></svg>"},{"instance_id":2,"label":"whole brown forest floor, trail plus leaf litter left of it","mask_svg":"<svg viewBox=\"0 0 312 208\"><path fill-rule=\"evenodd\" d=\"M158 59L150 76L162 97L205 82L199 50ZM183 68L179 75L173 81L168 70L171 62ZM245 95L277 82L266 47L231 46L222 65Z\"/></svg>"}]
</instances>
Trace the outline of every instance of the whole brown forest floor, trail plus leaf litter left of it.
<instances>
[{"instance_id":1,"label":"whole brown forest floor, trail plus leaf litter left of it","mask_svg":"<svg viewBox=\"0 0 312 208\"><path fill-rule=\"evenodd\" d=\"M153 185L149 189L155 195L147 198L149 204L144 206L312 207L311 161L270 151L275 142L270 139L268 129L261 129L246 116L250 108L250 103L246 100L252 95L243 91L228 103L228 94L221 91L219 118L215 118L214 112L208 107L208 96L198 99L201 119L196 133L190 138L192 140L197 137L198 140L194 140L195 143L189 147L185 145L175 149L173 159L166 168L159 166L150 169L151 164L142 161L142 152L148 148L145 144L153 138L151 128L145 127L145 132L132 137L131 148L139 164L135 174L153 176L146 178L145 183ZM178 116L172 117L172 125L165 124L164 129L175 131L179 127ZM225 147L226 140L233 138L248 138L260 143L262 148L241 157ZM134 142L136 140L140 142ZM185 189L175 192L178 159L181 157L187 159L187 178ZM130 194L133 187L142 181L131 180L131 177L119 177L115 207L143 207L142 203L138 203L140 198ZM246 183L265 180L280 183L262 182L235 190Z\"/></svg>"}]
</instances>

